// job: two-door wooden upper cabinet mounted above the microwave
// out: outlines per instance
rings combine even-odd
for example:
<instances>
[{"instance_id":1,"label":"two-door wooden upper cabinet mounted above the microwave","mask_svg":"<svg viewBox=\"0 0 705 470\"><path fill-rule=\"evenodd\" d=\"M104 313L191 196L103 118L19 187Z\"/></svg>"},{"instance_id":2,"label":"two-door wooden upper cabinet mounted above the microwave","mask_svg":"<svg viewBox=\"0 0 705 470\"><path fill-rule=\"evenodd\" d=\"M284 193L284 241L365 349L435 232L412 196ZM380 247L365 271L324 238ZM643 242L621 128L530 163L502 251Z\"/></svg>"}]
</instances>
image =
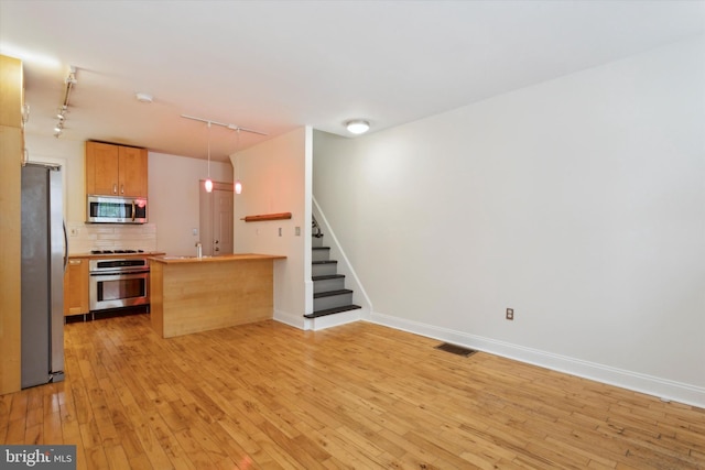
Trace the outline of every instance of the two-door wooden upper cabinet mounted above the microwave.
<instances>
[{"instance_id":1,"label":"two-door wooden upper cabinet mounted above the microwave","mask_svg":"<svg viewBox=\"0 0 705 470\"><path fill-rule=\"evenodd\" d=\"M147 149L86 142L86 194L147 198Z\"/></svg>"}]
</instances>

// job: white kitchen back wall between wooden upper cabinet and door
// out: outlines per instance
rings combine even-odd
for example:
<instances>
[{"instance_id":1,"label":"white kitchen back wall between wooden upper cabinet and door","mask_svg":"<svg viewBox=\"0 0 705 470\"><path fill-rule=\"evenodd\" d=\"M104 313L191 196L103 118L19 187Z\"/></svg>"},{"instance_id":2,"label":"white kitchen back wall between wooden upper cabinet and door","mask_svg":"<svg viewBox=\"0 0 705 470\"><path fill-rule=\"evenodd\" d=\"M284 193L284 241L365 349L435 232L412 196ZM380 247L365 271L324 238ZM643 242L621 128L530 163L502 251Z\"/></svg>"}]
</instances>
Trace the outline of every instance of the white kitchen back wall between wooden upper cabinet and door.
<instances>
[{"instance_id":1,"label":"white kitchen back wall between wooden upper cabinet and door","mask_svg":"<svg viewBox=\"0 0 705 470\"><path fill-rule=\"evenodd\" d=\"M150 152L150 222L156 225L156 249L173 255L194 255L200 240L199 185L208 176L200 159ZM230 162L210 162L210 179L232 183Z\"/></svg>"}]
</instances>

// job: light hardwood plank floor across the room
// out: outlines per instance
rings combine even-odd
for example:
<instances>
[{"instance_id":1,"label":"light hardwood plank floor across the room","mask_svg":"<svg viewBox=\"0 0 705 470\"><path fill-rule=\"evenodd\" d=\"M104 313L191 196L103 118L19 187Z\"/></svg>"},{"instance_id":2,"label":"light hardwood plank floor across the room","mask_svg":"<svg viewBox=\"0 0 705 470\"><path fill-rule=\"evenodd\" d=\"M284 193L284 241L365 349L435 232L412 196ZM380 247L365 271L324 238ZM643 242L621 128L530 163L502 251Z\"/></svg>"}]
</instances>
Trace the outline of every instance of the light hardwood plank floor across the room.
<instances>
[{"instance_id":1,"label":"light hardwood plank floor across the room","mask_svg":"<svg viewBox=\"0 0 705 470\"><path fill-rule=\"evenodd\" d=\"M65 330L66 381L1 396L0 442L79 469L705 468L704 409L371 324Z\"/></svg>"}]
</instances>

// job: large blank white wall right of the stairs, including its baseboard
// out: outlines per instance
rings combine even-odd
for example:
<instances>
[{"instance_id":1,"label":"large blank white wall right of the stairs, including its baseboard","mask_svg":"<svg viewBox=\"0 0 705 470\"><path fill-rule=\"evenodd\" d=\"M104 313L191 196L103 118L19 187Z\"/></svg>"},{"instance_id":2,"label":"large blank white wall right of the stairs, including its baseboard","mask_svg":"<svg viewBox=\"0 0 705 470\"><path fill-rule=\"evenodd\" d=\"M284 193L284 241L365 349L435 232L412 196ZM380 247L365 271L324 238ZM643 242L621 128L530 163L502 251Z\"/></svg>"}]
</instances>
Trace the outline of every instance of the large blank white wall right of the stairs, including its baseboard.
<instances>
[{"instance_id":1,"label":"large blank white wall right of the stairs, including its baseboard","mask_svg":"<svg viewBox=\"0 0 705 470\"><path fill-rule=\"evenodd\" d=\"M705 406L704 135L699 37L316 132L314 195L371 320Z\"/></svg>"}]
</instances>

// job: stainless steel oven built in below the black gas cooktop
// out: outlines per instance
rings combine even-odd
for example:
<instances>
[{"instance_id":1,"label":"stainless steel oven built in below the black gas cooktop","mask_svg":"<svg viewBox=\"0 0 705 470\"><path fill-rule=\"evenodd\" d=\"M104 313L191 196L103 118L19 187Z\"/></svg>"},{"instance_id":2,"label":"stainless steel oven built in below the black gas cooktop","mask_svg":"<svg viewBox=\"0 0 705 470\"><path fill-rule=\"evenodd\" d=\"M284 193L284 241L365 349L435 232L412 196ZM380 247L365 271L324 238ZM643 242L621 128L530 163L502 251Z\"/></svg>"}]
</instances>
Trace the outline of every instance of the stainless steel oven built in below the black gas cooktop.
<instances>
[{"instance_id":1,"label":"stainless steel oven built in below the black gas cooktop","mask_svg":"<svg viewBox=\"0 0 705 470\"><path fill-rule=\"evenodd\" d=\"M150 265L145 258L90 260L88 271L91 311L150 303Z\"/></svg>"}]
</instances>

